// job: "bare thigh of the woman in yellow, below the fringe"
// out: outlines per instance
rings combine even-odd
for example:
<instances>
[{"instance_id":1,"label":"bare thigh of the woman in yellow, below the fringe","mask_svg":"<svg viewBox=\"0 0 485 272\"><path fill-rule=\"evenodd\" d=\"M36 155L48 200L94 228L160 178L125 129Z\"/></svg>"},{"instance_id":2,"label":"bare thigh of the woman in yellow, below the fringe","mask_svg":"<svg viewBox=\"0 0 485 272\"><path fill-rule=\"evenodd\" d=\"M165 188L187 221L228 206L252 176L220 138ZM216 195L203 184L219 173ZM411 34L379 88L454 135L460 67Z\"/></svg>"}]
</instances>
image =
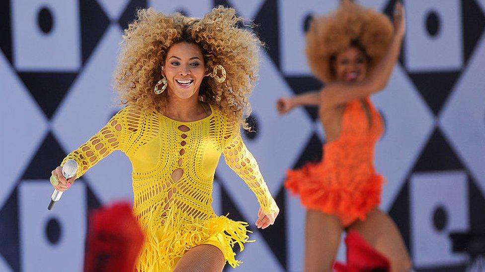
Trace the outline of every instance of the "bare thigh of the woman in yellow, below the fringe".
<instances>
[{"instance_id":1,"label":"bare thigh of the woman in yellow, below the fringe","mask_svg":"<svg viewBox=\"0 0 485 272\"><path fill-rule=\"evenodd\" d=\"M221 250L213 245L196 246L180 258L174 272L221 272L226 260Z\"/></svg>"}]
</instances>

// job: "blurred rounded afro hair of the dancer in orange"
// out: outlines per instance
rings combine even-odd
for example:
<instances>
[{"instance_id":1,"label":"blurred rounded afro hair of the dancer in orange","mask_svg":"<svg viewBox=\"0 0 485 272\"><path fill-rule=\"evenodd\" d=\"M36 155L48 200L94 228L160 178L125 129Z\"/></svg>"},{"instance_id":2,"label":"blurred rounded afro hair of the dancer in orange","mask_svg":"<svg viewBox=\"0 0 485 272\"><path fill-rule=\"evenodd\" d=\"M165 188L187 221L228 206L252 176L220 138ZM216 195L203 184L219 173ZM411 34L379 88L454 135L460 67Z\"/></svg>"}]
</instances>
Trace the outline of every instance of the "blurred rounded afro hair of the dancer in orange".
<instances>
[{"instance_id":1,"label":"blurred rounded afro hair of the dancer in orange","mask_svg":"<svg viewBox=\"0 0 485 272\"><path fill-rule=\"evenodd\" d=\"M386 15L343 1L334 12L312 20L305 52L315 76L328 83L335 80L332 58L336 54L357 46L372 69L387 52L393 34L394 27Z\"/></svg>"}]
</instances>

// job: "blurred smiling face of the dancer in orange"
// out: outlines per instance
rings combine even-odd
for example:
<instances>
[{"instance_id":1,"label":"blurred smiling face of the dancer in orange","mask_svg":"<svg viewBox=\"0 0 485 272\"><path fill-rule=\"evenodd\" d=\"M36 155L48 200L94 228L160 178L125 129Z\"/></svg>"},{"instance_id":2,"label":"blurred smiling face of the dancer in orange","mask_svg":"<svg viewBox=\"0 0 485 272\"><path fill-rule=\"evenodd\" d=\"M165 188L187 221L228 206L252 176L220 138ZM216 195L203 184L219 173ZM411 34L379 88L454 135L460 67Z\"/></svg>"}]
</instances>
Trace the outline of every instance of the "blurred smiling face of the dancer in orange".
<instances>
[{"instance_id":1,"label":"blurred smiling face of the dancer in orange","mask_svg":"<svg viewBox=\"0 0 485 272\"><path fill-rule=\"evenodd\" d=\"M335 78L338 81L362 81L367 75L367 58L359 48L351 46L337 54L333 62Z\"/></svg>"}]
</instances>

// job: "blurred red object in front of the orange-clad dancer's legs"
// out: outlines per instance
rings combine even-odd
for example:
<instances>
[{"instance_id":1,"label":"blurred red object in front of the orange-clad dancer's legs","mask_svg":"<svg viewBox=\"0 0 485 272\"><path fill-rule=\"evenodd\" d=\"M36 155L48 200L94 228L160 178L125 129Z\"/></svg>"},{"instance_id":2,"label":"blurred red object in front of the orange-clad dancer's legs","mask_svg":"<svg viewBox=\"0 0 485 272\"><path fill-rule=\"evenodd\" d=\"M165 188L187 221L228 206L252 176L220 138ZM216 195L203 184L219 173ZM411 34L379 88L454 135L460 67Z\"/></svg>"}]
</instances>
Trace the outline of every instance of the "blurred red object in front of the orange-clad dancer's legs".
<instances>
[{"instance_id":1,"label":"blurred red object in front of the orange-clad dancer's legs","mask_svg":"<svg viewBox=\"0 0 485 272\"><path fill-rule=\"evenodd\" d=\"M351 230L345 238L347 264L336 262L336 272L390 272L389 260L372 248L357 231Z\"/></svg>"}]
</instances>

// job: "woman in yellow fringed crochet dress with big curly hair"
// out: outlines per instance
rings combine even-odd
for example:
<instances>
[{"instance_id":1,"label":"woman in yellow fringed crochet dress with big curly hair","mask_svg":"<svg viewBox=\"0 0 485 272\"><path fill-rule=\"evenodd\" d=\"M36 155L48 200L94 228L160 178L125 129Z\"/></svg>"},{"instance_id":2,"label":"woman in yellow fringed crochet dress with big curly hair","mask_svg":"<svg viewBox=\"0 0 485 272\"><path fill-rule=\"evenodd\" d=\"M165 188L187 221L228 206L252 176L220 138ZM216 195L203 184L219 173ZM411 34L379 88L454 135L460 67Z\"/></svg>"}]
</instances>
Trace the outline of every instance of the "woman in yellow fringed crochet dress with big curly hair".
<instances>
[{"instance_id":1,"label":"woman in yellow fringed crochet dress with big curly hair","mask_svg":"<svg viewBox=\"0 0 485 272\"><path fill-rule=\"evenodd\" d=\"M218 7L203 18L142 9L123 35L115 72L121 109L66 160L76 178L114 150L133 165L133 211L146 241L137 271L222 271L236 267L233 247L248 240L246 222L217 216L212 184L219 157L247 183L260 204L256 226L279 209L241 138L256 80L260 41L237 27L243 18Z\"/></svg>"}]
</instances>

